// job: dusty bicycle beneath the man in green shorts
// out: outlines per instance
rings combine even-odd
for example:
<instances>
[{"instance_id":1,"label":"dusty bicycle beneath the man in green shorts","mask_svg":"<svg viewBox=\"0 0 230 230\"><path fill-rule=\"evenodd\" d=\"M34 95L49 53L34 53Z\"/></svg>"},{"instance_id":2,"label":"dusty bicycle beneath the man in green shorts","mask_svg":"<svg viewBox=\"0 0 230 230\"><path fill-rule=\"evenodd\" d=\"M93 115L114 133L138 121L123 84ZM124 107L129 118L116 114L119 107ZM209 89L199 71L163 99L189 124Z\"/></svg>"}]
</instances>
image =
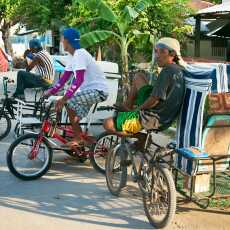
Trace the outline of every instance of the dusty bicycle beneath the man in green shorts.
<instances>
[{"instance_id":1,"label":"dusty bicycle beneath the man in green shorts","mask_svg":"<svg viewBox=\"0 0 230 230\"><path fill-rule=\"evenodd\" d=\"M158 131L147 131L142 150L136 149L137 142L133 142L132 137L122 137L120 144L108 154L105 172L109 191L119 196L127 184L127 168L131 166L131 175L142 193L150 224L163 228L171 223L176 211L176 189L171 172L174 150L152 141L151 132Z\"/></svg>"}]
</instances>

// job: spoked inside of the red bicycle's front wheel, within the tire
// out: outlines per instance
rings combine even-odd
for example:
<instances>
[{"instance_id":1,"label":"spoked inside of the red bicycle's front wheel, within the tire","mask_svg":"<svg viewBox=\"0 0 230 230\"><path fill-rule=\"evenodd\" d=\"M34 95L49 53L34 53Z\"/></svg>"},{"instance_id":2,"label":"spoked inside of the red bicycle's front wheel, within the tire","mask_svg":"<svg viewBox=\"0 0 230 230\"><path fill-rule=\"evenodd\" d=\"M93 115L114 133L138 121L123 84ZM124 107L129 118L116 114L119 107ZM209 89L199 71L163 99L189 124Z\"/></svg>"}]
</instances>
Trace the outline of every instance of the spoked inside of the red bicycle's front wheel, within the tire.
<instances>
[{"instance_id":1,"label":"spoked inside of the red bicycle's front wheel, within the tire","mask_svg":"<svg viewBox=\"0 0 230 230\"><path fill-rule=\"evenodd\" d=\"M17 172L25 176L39 174L48 165L49 151L44 143L28 138L15 146L12 163Z\"/></svg>"}]
</instances>

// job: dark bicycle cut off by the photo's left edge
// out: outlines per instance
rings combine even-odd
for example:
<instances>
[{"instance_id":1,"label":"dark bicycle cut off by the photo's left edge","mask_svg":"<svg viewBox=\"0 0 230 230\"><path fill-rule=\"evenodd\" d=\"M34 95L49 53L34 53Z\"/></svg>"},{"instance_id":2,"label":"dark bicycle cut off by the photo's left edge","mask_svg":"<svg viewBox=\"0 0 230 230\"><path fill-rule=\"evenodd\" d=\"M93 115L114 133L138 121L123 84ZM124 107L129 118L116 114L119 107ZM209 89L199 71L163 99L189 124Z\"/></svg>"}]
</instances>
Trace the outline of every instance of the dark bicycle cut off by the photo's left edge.
<instances>
[{"instance_id":1,"label":"dark bicycle cut off by the photo's left edge","mask_svg":"<svg viewBox=\"0 0 230 230\"><path fill-rule=\"evenodd\" d=\"M14 83L8 77L3 77L3 95L0 108L0 140L5 138L12 126L11 120L18 120L14 132L16 136L20 135L21 117L39 117L41 112L41 101L23 102L19 99L10 98L8 93L8 83ZM22 114L22 109L27 110L27 114Z\"/></svg>"}]
</instances>

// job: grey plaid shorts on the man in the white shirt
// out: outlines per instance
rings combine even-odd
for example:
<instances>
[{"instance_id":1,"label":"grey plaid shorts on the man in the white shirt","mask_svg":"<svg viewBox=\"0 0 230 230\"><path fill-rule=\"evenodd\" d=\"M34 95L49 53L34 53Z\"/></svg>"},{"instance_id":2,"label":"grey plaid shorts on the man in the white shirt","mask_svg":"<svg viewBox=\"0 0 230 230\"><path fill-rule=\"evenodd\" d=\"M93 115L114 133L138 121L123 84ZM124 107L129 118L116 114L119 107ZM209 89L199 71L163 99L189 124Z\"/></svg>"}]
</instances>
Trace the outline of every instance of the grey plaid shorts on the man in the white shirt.
<instances>
[{"instance_id":1,"label":"grey plaid shorts on the man in the white shirt","mask_svg":"<svg viewBox=\"0 0 230 230\"><path fill-rule=\"evenodd\" d=\"M96 89L77 92L67 101L67 107L74 110L76 115L82 119L89 113L93 104L105 101L108 94Z\"/></svg>"}]
</instances>

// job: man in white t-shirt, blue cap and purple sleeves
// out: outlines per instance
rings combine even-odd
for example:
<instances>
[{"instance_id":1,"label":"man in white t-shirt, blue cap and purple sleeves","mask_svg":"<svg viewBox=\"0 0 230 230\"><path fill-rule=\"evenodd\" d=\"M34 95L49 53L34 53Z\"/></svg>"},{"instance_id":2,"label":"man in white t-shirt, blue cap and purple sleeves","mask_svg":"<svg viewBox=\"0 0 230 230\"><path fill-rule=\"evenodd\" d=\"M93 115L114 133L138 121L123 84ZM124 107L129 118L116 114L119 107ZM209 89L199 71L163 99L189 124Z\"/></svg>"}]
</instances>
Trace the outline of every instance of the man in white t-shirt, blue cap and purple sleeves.
<instances>
[{"instance_id":1,"label":"man in white t-shirt, blue cap and purple sleeves","mask_svg":"<svg viewBox=\"0 0 230 230\"><path fill-rule=\"evenodd\" d=\"M74 80L65 95L56 102L56 110L61 111L66 106L68 116L73 128L74 139L67 143L73 148L82 143L82 129L79 121L86 117L91 106L95 103L105 101L108 97L108 87L105 75L94 58L83 48L80 48L80 33L67 28L62 36L63 48L69 53L65 72L45 96L56 94L71 78Z\"/></svg>"}]
</instances>

